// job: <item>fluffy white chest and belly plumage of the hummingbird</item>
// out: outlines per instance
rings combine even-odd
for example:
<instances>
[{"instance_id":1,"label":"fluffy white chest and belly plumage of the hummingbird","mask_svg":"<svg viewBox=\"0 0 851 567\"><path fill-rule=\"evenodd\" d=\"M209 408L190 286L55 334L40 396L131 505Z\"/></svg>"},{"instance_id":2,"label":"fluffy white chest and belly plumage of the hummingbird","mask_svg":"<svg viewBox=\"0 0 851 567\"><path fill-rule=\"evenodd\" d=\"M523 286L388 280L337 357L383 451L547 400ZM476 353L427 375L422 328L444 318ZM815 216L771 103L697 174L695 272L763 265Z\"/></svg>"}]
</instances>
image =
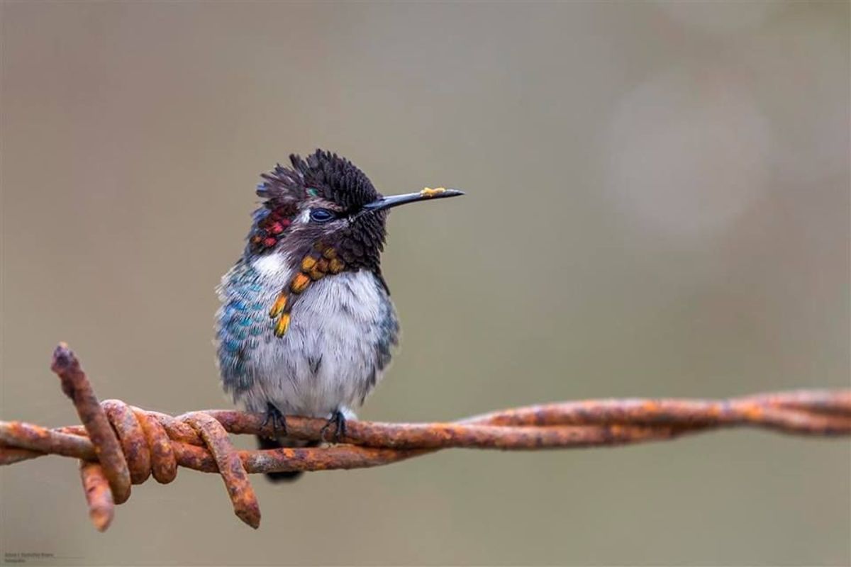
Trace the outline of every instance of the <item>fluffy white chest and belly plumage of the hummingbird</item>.
<instances>
[{"instance_id":1,"label":"fluffy white chest and belly plumage of the hummingbird","mask_svg":"<svg viewBox=\"0 0 851 567\"><path fill-rule=\"evenodd\" d=\"M271 305L288 281L283 258L254 261L266 281L261 302ZM397 343L390 298L371 272L344 272L315 281L294 303L286 335L260 337L246 366L252 385L237 394L248 411L266 404L284 414L325 417L357 407L380 380Z\"/></svg>"}]
</instances>

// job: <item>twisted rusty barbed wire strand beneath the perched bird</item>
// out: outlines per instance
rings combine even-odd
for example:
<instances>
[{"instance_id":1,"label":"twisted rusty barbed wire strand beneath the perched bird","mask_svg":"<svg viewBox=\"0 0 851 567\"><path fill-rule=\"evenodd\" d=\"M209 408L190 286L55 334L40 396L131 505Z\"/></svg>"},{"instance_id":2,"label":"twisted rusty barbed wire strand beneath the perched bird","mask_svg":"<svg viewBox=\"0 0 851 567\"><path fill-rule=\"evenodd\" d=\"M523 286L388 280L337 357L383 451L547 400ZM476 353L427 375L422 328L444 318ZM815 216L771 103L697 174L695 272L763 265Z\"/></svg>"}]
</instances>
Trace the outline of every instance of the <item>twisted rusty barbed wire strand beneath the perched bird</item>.
<instances>
[{"instance_id":1,"label":"twisted rusty barbed wire strand beneath the perched bird","mask_svg":"<svg viewBox=\"0 0 851 567\"><path fill-rule=\"evenodd\" d=\"M66 344L51 369L82 426L43 428L0 421L0 464L46 455L80 460L89 517L106 530L131 485L153 476L166 484L177 468L219 473L234 513L260 525L248 473L368 468L448 448L537 450L614 446L674 439L716 428L766 428L784 434L851 434L851 390L797 390L729 400L585 400L494 411L457 422L349 421L335 445L237 451L228 434L275 434L262 415L192 411L171 417L120 400L99 402ZM325 441L326 420L288 416L287 435Z\"/></svg>"}]
</instances>

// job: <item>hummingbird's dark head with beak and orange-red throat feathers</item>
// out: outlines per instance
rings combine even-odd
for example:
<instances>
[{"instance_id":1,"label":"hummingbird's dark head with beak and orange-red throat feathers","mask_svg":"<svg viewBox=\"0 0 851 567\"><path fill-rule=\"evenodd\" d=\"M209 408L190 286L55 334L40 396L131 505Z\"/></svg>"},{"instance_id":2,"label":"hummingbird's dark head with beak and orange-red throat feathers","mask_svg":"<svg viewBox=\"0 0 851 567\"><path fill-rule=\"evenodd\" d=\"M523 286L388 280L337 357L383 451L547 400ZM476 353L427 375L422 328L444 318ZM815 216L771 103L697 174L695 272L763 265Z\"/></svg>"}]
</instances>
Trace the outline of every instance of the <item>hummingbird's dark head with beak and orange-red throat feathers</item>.
<instances>
[{"instance_id":1,"label":"hummingbird's dark head with beak and orange-red throat feathers","mask_svg":"<svg viewBox=\"0 0 851 567\"><path fill-rule=\"evenodd\" d=\"M263 201L248 235L249 255L286 254L299 264L270 315L280 317L283 335L288 310L311 281L359 269L380 275L387 213L391 207L463 195L459 190L425 189L382 196L351 162L317 150L307 159L289 157L262 175L257 187Z\"/></svg>"}]
</instances>

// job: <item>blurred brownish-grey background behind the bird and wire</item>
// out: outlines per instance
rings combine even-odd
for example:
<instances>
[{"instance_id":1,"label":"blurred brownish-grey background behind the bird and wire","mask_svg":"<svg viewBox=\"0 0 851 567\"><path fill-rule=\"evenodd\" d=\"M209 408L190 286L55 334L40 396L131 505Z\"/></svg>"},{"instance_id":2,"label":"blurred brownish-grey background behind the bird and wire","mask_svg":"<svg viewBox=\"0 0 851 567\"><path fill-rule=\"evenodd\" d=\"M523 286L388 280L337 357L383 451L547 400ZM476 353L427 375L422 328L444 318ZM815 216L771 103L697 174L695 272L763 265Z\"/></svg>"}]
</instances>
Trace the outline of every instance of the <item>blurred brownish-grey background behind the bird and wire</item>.
<instances>
[{"instance_id":1,"label":"blurred brownish-grey background behind the bird and wire","mask_svg":"<svg viewBox=\"0 0 851 567\"><path fill-rule=\"evenodd\" d=\"M259 173L327 148L397 210L403 346L360 411L849 381L849 5L2 5L2 417L101 398L229 407L214 287ZM252 441L241 439L244 446ZM851 563L851 445L725 431L620 449L444 451L135 486L105 534L71 459L0 469L2 548L48 564ZM31 562L32 563L32 562Z\"/></svg>"}]
</instances>

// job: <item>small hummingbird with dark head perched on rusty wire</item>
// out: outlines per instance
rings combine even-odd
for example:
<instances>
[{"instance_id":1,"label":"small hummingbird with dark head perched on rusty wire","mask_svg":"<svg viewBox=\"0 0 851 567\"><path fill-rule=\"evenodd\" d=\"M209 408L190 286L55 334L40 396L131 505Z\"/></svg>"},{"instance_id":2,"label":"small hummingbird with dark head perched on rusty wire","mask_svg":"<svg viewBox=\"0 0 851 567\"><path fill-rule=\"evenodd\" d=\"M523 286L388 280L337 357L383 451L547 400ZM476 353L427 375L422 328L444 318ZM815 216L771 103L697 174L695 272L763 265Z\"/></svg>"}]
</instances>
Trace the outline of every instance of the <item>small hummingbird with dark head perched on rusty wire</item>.
<instances>
[{"instance_id":1,"label":"small hummingbird with dark head perched on rusty wire","mask_svg":"<svg viewBox=\"0 0 851 567\"><path fill-rule=\"evenodd\" d=\"M258 436L262 449L306 446L286 437L288 415L327 419L339 440L398 345L380 264L387 213L464 193L382 196L354 164L325 150L291 155L288 166L260 177L243 254L217 288L222 387L245 411L271 420L276 436Z\"/></svg>"}]
</instances>

